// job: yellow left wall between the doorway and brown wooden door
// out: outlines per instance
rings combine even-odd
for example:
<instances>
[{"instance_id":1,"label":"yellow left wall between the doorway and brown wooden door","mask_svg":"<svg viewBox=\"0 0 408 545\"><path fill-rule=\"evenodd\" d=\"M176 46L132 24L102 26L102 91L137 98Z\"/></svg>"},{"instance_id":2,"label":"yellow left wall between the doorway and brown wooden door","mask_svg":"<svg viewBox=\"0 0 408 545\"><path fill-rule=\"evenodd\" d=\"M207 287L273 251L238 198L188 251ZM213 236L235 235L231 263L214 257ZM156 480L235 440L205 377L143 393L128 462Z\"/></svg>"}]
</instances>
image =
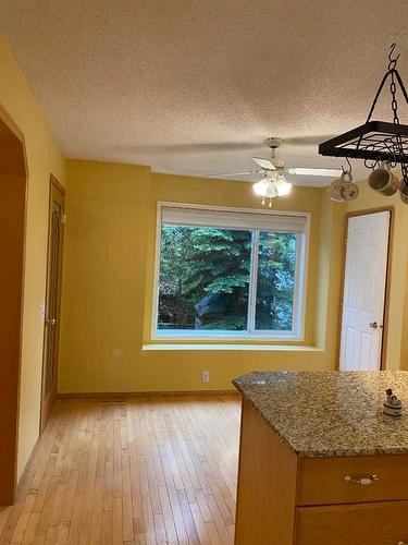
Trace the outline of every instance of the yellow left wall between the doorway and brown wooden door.
<instances>
[{"instance_id":1,"label":"yellow left wall between the doorway and brown wooden door","mask_svg":"<svg viewBox=\"0 0 408 545\"><path fill-rule=\"evenodd\" d=\"M65 161L23 73L0 36L0 105L25 135L28 162L23 347L18 429L21 475L39 431L49 177L64 182Z\"/></svg>"}]
</instances>

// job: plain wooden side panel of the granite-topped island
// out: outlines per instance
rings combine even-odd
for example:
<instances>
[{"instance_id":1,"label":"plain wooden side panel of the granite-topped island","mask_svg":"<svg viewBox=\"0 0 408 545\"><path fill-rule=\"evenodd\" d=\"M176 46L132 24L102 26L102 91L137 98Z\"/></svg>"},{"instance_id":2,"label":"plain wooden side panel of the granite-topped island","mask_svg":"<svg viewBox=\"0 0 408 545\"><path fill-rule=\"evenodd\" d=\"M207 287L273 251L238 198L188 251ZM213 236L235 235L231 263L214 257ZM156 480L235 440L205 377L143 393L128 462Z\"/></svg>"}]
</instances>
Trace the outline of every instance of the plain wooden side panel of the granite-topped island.
<instances>
[{"instance_id":1,"label":"plain wooden side panel of the granite-topped island","mask_svg":"<svg viewBox=\"0 0 408 545\"><path fill-rule=\"evenodd\" d=\"M289 545L294 540L298 457L248 401L243 403L237 545Z\"/></svg>"}]
</instances>

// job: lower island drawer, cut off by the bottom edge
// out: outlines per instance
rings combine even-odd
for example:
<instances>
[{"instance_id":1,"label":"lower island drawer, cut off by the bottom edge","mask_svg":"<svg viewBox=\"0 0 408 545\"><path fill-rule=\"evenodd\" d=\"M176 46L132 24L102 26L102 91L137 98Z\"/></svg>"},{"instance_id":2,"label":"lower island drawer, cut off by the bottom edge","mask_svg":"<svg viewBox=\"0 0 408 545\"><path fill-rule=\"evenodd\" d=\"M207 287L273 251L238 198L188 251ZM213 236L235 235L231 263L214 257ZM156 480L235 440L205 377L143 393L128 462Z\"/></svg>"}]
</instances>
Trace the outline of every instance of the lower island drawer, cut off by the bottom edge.
<instances>
[{"instance_id":1,"label":"lower island drawer, cut off by the bottom edge","mask_svg":"<svg viewBox=\"0 0 408 545\"><path fill-rule=\"evenodd\" d=\"M408 501L301 507L296 545L408 545Z\"/></svg>"}]
</instances>

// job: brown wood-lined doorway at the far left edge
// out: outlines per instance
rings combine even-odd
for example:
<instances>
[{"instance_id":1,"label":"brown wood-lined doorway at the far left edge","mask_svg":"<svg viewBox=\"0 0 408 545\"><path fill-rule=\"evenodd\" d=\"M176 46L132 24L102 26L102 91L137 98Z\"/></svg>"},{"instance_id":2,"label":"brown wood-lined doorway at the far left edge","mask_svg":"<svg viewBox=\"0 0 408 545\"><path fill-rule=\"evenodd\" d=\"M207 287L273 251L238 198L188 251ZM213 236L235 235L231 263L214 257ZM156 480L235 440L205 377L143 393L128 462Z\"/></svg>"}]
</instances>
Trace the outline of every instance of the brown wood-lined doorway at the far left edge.
<instances>
[{"instance_id":1,"label":"brown wood-lined doorway at the far left edge","mask_svg":"<svg viewBox=\"0 0 408 545\"><path fill-rule=\"evenodd\" d=\"M0 506L16 492L26 186L24 136L0 107Z\"/></svg>"}]
</instances>

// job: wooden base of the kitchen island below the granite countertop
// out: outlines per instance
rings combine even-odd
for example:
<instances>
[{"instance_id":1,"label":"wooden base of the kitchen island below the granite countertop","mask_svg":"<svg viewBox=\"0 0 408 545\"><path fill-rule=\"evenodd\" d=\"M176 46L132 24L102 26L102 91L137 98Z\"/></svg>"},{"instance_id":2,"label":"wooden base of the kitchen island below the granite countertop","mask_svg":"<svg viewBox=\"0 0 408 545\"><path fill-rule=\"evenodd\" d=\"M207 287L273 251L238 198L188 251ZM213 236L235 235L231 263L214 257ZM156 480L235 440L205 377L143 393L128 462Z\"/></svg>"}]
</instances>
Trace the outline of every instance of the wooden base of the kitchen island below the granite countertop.
<instances>
[{"instance_id":1,"label":"wooden base of the kitchen island below the granite countertop","mask_svg":"<svg viewBox=\"0 0 408 545\"><path fill-rule=\"evenodd\" d=\"M300 458L244 399L235 545L323 544L408 545L408 456Z\"/></svg>"}]
</instances>

